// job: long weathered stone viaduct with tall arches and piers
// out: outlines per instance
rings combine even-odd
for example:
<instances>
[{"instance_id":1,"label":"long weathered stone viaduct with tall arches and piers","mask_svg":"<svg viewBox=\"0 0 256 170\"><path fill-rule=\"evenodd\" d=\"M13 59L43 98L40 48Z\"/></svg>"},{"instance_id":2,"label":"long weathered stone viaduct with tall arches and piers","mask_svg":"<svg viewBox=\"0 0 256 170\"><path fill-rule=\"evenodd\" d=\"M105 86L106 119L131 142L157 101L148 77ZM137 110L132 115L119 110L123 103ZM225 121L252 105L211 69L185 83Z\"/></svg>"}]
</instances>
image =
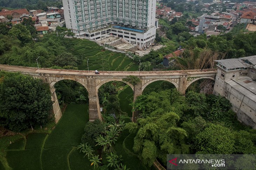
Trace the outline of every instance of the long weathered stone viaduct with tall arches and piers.
<instances>
[{"instance_id":1,"label":"long weathered stone viaduct with tall arches and piers","mask_svg":"<svg viewBox=\"0 0 256 170\"><path fill-rule=\"evenodd\" d=\"M164 80L174 84L176 89L185 95L186 89L190 84L199 79L211 79L215 81L216 69L206 70L180 70L180 71L149 71L149 72L121 72L121 71L104 71L100 74L95 74L94 71L80 71L80 70L63 70L63 69L49 69L49 68L33 68L0 65L0 70L8 72L20 72L21 74L31 75L35 78L40 78L48 83L52 93L53 112L56 123L60 120L62 113L60 105L55 93L54 85L61 80L73 80L81 83L88 91L89 97L89 120L101 119L100 104L98 98L99 88L109 81L121 81L129 75L134 75L140 78L141 83L133 87L128 84L134 91L134 101L142 94L142 91L148 84Z\"/></svg>"}]
</instances>

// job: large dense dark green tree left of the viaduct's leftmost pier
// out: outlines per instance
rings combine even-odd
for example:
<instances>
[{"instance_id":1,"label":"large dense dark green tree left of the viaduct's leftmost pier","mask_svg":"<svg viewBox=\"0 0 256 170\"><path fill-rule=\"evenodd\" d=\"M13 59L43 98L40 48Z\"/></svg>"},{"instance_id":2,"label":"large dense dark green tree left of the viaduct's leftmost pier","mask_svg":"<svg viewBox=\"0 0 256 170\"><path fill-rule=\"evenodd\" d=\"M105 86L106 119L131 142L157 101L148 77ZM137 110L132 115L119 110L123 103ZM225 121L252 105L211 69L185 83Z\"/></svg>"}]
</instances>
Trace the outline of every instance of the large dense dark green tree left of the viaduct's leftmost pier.
<instances>
[{"instance_id":1,"label":"large dense dark green tree left of the viaduct's leftmost pier","mask_svg":"<svg viewBox=\"0 0 256 170\"><path fill-rule=\"evenodd\" d=\"M45 125L52 109L50 88L40 79L0 72L0 124L13 131Z\"/></svg>"}]
</instances>

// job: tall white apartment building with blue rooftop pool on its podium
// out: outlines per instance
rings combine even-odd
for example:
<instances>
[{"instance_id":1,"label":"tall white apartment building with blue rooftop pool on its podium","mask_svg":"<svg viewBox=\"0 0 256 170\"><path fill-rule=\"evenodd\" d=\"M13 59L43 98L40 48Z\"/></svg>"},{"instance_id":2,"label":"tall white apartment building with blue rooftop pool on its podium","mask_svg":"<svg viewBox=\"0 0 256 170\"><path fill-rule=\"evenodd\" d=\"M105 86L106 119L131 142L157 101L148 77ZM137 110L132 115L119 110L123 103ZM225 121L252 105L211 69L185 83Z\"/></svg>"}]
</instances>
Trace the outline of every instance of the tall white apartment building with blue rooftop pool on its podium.
<instances>
[{"instance_id":1,"label":"tall white apartment building with blue rooftop pool on its podium","mask_svg":"<svg viewBox=\"0 0 256 170\"><path fill-rule=\"evenodd\" d=\"M66 27L77 36L122 37L140 49L153 44L156 0L62 0Z\"/></svg>"}]
</instances>

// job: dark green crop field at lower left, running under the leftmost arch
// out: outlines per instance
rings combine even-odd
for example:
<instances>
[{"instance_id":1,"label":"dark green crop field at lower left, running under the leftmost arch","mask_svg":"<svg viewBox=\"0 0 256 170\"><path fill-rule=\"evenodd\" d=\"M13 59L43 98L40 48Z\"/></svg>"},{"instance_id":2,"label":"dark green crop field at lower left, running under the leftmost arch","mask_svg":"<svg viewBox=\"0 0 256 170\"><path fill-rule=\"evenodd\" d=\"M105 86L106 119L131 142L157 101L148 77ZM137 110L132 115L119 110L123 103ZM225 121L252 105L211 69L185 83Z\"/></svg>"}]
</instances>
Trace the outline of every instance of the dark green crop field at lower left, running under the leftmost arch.
<instances>
[{"instance_id":1,"label":"dark green crop field at lower left, running under the leftmost arch","mask_svg":"<svg viewBox=\"0 0 256 170\"><path fill-rule=\"evenodd\" d=\"M14 170L69 170L71 165L74 167L72 169L78 169L76 165L83 166L83 162L82 165L77 164L78 154L73 148L79 145L83 128L89 121L87 110L88 105L70 104L52 133L30 133L26 139L20 138L13 142L8 146L6 154L9 167ZM70 155L72 157L69 159ZM82 154L78 159L81 160L81 157Z\"/></svg>"}]
</instances>

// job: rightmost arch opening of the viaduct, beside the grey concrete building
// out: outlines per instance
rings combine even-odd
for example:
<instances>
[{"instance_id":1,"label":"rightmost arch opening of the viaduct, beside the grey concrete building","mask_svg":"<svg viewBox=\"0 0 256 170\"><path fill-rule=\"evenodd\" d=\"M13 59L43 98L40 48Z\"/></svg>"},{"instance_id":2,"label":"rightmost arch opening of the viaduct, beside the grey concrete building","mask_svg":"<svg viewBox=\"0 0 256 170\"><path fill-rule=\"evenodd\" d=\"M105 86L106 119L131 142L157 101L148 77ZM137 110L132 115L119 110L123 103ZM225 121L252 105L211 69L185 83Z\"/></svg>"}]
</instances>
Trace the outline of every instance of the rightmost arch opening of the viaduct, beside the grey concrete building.
<instances>
[{"instance_id":1,"label":"rightmost arch opening of the viaduct, beside the grey concrete building","mask_svg":"<svg viewBox=\"0 0 256 170\"><path fill-rule=\"evenodd\" d=\"M213 77L198 77L188 81L186 94L188 91L197 93L212 94L215 79Z\"/></svg>"}]
</instances>

